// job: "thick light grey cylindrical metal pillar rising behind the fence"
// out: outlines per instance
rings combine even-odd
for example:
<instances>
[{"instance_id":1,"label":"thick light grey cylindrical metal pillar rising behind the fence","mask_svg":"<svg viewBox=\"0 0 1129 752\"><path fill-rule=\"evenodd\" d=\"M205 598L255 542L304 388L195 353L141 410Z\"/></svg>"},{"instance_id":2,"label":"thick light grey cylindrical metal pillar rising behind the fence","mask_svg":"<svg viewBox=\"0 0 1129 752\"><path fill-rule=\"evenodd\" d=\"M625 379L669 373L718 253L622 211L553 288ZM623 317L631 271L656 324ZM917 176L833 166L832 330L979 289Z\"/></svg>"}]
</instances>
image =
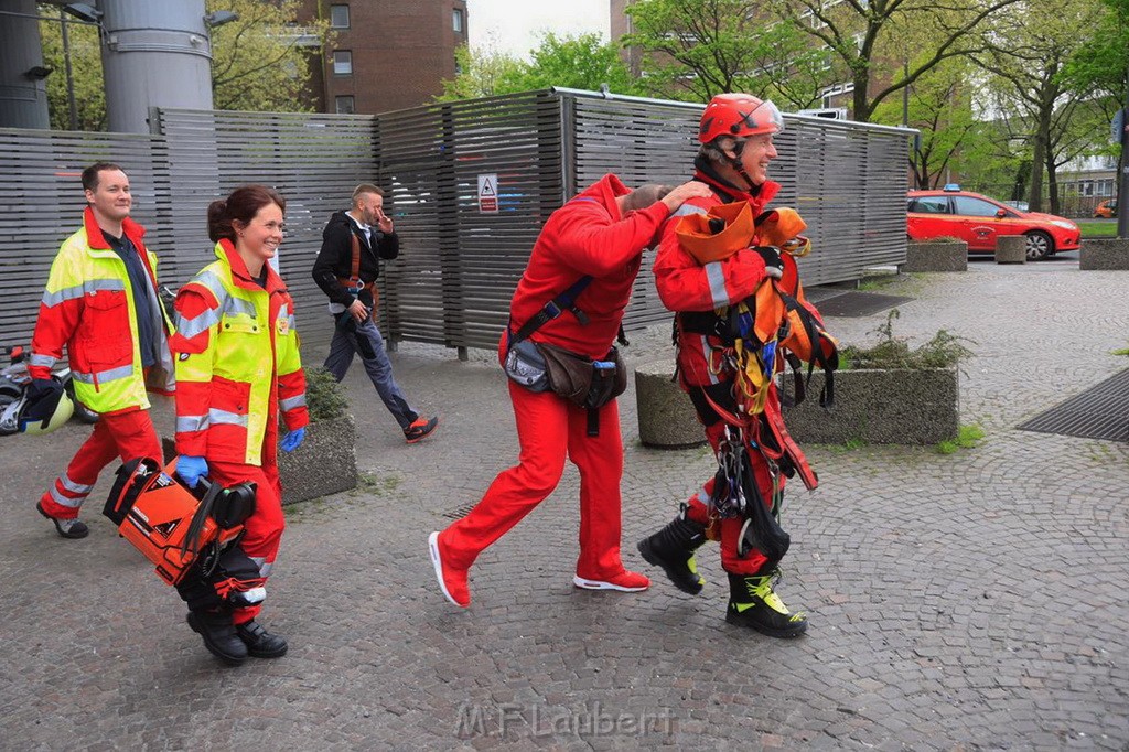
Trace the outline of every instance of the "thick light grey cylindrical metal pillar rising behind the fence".
<instances>
[{"instance_id":1,"label":"thick light grey cylindrical metal pillar rising behind the fence","mask_svg":"<svg viewBox=\"0 0 1129 752\"><path fill-rule=\"evenodd\" d=\"M204 0L99 0L111 131L150 132L150 107L211 110Z\"/></svg>"}]
</instances>

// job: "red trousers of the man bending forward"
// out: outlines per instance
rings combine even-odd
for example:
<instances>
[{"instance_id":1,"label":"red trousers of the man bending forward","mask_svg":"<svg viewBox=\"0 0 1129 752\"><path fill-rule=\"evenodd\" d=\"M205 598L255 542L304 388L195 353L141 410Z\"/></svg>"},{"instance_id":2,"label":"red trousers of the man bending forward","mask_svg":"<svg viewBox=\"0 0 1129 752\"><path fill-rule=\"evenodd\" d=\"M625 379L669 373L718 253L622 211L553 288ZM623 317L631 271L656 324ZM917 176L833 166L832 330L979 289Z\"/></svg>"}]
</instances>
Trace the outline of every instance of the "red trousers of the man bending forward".
<instances>
[{"instance_id":1,"label":"red trousers of the man bending forward","mask_svg":"<svg viewBox=\"0 0 1129 752\"><path fill-rule=\"evenodd\" d=\"M551 392L509 383L520 455L471 513L439 537L445 557L469 568L484 549L553 492L568 457L580 471L580 558L576 574L604 580L623 572L620 560L620 480L623 440L614 400L599 409L599 436L588 436L588 411Z\"/></svg>"}]
</instances>

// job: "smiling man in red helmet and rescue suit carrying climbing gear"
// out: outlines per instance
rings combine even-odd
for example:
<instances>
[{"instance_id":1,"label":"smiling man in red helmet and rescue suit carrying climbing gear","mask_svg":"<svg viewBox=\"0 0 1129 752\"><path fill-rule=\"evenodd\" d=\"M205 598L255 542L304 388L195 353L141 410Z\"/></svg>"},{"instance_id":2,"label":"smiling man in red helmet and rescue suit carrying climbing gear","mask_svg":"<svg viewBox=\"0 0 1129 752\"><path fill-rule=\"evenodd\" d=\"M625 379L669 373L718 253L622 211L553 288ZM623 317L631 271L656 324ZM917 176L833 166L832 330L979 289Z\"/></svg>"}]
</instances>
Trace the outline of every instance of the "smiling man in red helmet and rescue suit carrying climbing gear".
<instances>
[{"instance_id":1,"label":"smiling man in red helmet and rescue suit carrying climbing gear","mask_svg":"<svg viewBox=\"0 0 1129 752\"><path fill-rule=\"evenodd\" d=\"M677 215L706 213L711 207L743 201L751 207L753 217L759 216L780 189L768 180L767 170L777 157L772 137L782 128L780 113L771 102L747 94L714 97L702 113L701 147L694 161L695 180L709 184L712 195L686 202ZM733 349L732 339L724 333L727 311L750 298L767 277L780 279L784 263L777 250L753 244L724 261L702 264L680 245L677 224L677 217L672 218L663 229L655 281L664 305L676 312L682 386L718 452L730 426L715 408L732 411L735 402L735 371L725 359L726 348ZM774 386L769 386L764 412L756 418L765 441L771 440L770 423L784 431ZM759 443L753 444L755 447ZM764 504L771 505L780 498L785 479L756 448L749 448L747 456L756 489ZM680 589L697 594L703 580L697 572L694 550L707 540L707 533L710 537L719 535L721 566L728 574L730 591L726 620L772 637L804 633L806 617L789 612L772 589L778 560L770 560L756 548L744 550L745 521L739 516L717 521L710 507L714 492L715 480L710 479L672 523L639 543L640 553L648 562L663 567Z\"/></svg>"}]
</instances>

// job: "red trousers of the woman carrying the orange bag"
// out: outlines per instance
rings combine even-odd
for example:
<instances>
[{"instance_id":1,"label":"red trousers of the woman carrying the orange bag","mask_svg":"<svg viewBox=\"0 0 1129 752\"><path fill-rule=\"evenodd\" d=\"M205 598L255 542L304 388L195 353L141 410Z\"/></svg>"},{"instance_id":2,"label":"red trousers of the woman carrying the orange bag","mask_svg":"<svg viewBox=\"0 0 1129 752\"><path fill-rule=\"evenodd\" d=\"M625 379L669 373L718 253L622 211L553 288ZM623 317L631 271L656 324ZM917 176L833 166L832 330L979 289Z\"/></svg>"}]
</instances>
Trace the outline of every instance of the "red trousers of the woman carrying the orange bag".
<instances>
[{"instance_id":1,"label":"red trousers of the woman carrying the orange bag","mask_svg":"<svg viewBox=\"0 0 1129 752\"><path fill-rule=\"evenodd\" d=\"M264 584L274 567L274 557L278 556L282 530L286 527L277 445L278 428L269 425L263 437L262 466L208 458L208 475L220 486L228 488L243 481L255 483L255 513L243 524L246 532L239 541L239 548L259 567L259 576ZM261 610L262 605L236 609L235 623L251 621Z\"/></svg>"}]
</instances>

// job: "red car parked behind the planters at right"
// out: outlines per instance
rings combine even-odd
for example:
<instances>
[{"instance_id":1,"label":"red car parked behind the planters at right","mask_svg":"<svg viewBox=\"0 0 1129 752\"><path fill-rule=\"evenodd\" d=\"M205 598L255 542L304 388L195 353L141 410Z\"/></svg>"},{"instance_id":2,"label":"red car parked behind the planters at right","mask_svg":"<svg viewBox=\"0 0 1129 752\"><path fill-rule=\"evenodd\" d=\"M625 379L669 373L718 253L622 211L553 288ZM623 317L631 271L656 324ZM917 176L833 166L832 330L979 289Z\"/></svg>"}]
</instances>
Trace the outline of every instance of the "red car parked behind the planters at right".
<instances>
[{"instance_id":1,"label":"red car parked behind the planters at right","mask_svg":"<svg viewBox=\"0 0 1129 752\"><path fill-rule=\"evenodd\" d=\"M1025 235L1027 261L1039 261L1059 251L1075 251L1082 241L1082 230L1069 219L1019 211L956 186L910 191L907 211L911 241L955 237L969 244L969 253L996 253L998 236Z\"/></svg>"}]
</instances>

